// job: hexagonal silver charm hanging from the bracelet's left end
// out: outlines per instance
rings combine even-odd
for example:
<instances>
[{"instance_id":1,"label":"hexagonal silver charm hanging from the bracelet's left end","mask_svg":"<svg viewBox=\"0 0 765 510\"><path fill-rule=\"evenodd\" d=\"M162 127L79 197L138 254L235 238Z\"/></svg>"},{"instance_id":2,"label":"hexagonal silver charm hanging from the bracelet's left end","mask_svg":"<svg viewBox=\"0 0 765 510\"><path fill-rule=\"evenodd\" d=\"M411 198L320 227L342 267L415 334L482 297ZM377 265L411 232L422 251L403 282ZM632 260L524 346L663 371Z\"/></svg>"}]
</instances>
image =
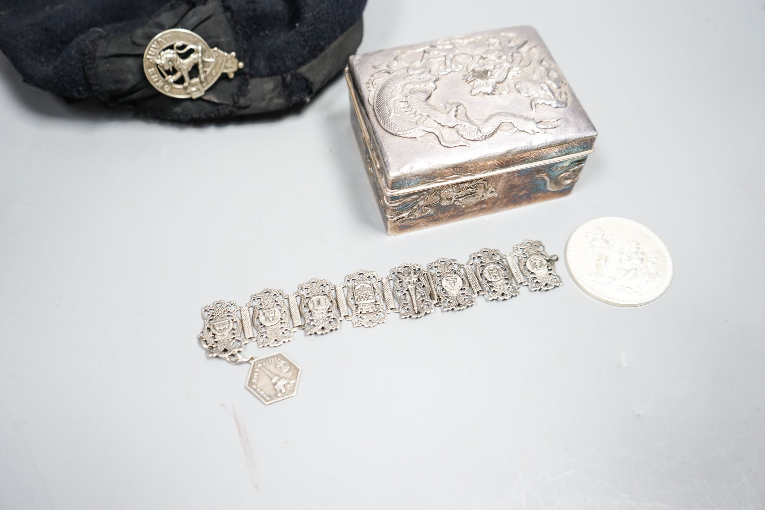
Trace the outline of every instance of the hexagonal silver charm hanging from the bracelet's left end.
<instances>
[{"instance_id":1,"label":"hexagonal silver charm hanging from the bracelet's left end","mask_svg":"<svg viewBox=\"0 0 765 510\"><path fill-rule=\"evenodd\" d=\"M294 361L277 352L251 363L245 388L263 404L273 404L295 396L300 371Z\"/></svg>"}]
</instances>

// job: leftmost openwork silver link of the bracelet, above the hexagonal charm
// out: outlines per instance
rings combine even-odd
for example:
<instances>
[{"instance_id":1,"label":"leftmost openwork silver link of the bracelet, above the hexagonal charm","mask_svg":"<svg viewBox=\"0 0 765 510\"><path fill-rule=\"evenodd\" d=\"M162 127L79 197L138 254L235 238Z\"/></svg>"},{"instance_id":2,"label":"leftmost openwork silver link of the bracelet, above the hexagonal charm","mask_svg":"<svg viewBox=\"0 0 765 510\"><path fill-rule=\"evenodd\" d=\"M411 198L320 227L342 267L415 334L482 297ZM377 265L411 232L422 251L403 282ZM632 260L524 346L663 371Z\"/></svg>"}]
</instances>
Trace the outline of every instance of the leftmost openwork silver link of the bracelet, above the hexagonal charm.
<instances>
[{"instance_id":1,"label":"leftmost openwork silver link of the bracelet, above the hexagonal charm","mask_svg":"<svg viewBox=\"0 0 765 510\"><path fill-rule=\"evenodd\" d=\"M202 308L204 324L197 339L210 358L239 359L247 339L242 335L242 321L234 301L215 301Z\"/></svg>"}]
</instances>

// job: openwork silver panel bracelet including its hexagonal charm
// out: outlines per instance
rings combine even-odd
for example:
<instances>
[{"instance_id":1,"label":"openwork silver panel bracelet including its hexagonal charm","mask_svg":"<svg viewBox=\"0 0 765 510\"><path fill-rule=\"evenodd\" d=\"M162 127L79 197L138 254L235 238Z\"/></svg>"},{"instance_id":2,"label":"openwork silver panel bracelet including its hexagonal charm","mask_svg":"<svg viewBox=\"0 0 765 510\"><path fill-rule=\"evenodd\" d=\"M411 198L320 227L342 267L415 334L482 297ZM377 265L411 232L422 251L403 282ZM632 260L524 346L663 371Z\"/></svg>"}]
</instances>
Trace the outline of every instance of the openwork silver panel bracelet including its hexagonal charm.
<instances>
[{"instance_id":1,"label":"openwork silver panel bracelet including its hexagonal charm","mask_svg":"<svg viewBox=\"0 0 765 510\"><path fill-rule=\"evenodd\" d=\"M558 256L548 255L542 242L526 239L509 255L484 248L464 264L454 258L438 258L425 268L407 263L392 268L387 278L375 271L354 271L342 285L314 278L298 285L295 294L266 288L252 294L243 307L224 300L203 307L197 339L211 358L251 363L246 388L271 404L295 395L301 369L281 353L243 357L249 340L259 347L276 347L293 339L297 330L306 335L337 330L343 319L354 327L372 327L386 322L390 312L407 319L435 307L464 310L475 304L478 294L489 300L509 299L522 285L549 291L561 284L556 261Z\"/></svg>"}]
</instances>

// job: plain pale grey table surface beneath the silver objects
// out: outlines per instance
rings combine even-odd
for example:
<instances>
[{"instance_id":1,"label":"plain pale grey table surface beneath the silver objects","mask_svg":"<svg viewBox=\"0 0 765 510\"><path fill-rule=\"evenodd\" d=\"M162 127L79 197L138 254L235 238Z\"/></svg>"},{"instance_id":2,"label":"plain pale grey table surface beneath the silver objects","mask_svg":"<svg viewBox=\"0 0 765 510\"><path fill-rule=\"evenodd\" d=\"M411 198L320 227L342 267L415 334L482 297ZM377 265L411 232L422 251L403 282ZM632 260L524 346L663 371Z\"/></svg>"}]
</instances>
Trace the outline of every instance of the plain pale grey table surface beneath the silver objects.
<instances>
[{"instance_id":1,"label":"plain pale grey table surface beneath the silver objects","mask_svg":"<svg viewBox=\"0 0 765 510\"><path fill-rule=\"evenodd\" d=\"M193 127L69 106L0 57L0 508L765 508L762 0L365 19L363 51L534 25L600 132L574 192L389 237L342 80ZM561 264L544 294L298 333L298 395L269 407L195 339L215 299L525 238L562 255L599 216L664 240L663 297L611 307Z\"/></svg>"}]
</instances>

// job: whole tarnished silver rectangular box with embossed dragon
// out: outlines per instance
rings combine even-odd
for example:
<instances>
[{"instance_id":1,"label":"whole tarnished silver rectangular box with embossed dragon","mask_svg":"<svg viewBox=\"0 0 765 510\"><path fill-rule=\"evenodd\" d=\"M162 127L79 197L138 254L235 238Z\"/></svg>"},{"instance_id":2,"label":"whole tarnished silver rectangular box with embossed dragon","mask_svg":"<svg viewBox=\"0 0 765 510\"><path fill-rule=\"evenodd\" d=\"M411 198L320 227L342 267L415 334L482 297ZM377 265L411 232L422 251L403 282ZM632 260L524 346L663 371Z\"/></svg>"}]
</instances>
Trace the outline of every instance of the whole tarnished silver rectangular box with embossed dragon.
<instances>
[{"instance_id":1,"label":"whole tarnished silver rectangular box with embossed dragon","mask_svg":"<svg viewBox=\"0 0 765 510\"><path fill-rule=\"evenodd\" d=\"M531 27L353 55L346 79L391 235L563 197L597 136Z\"/></svg>"}]
</instances>

